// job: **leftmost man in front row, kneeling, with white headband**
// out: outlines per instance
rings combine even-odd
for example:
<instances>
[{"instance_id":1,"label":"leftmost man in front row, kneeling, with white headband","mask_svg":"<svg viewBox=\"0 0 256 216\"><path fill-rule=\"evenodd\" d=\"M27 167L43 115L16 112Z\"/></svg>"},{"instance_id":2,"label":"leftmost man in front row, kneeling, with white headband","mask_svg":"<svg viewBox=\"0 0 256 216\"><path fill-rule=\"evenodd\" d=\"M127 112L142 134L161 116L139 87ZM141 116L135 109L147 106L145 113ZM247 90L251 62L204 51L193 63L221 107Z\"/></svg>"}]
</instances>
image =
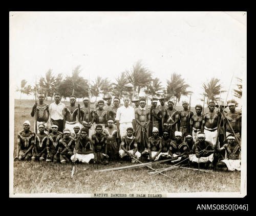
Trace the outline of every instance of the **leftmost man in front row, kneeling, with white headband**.
<instances>
[{"instance_id":1,"label":"leftmost man in front row, kneeling, with white headband","mask_svg":"<svg viewBox=\"0 0 256 216\"><path fill-rule=\"evenodd\" d=\"M17 140L17 155L14 158L18 160L29 160L32 155L32 148L34 146L35 135L30 129L30 122L23 123L23 131L18 133Z\"/></svg>"}]
</instances>

